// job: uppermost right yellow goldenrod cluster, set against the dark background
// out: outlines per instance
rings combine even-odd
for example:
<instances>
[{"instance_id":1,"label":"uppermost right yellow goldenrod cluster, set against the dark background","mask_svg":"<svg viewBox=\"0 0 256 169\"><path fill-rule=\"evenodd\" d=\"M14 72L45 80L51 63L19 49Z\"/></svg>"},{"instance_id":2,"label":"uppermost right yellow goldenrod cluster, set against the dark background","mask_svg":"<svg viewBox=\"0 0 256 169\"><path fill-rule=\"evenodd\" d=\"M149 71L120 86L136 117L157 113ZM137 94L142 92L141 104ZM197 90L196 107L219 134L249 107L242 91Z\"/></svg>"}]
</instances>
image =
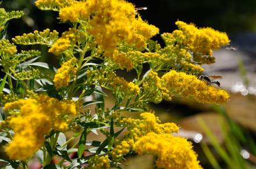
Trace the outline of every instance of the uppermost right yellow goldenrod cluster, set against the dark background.
<instances>
[{"instance_id":1,"label":"uppermost right yellow goldenrod cluster, set against the dark background","mask_svg":"<svg viewBox=\"0 0 256 169\"><path fill-rule=\"evenodd\" d=\"M186 24L183 21L176 21L176 25L179 30L173 31L172 34L162 34L163 40L167 46L183 46L193 54L193 59L198 64L214 63L212 50L229 44L225 33L212 28L197 28L194 24Z\"/></svg>"}]
</instances>

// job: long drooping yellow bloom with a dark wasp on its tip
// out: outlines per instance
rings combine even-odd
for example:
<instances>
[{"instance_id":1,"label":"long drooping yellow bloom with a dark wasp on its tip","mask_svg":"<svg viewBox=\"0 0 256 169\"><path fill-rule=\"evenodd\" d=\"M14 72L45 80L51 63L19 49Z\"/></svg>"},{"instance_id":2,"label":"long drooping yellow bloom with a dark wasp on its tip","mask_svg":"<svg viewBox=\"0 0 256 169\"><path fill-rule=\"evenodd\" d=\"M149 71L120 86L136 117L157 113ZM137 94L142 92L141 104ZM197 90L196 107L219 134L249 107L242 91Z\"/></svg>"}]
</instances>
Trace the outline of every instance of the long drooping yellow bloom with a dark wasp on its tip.
<instances>
[{"instance_id":1,"label":"long drooping yellow bloom with a dark wasp on its tip","mask_svg":"<svg viewBox=\"0 0 256 169\"><path fill-rule=\"evenodd\" d=\"M223 103L229 99L226 90L208 85L194 75L170 71L162 76L162 86L169 90L170 95L194 97L198 102Z\"/></svg>"}]
</instances>

